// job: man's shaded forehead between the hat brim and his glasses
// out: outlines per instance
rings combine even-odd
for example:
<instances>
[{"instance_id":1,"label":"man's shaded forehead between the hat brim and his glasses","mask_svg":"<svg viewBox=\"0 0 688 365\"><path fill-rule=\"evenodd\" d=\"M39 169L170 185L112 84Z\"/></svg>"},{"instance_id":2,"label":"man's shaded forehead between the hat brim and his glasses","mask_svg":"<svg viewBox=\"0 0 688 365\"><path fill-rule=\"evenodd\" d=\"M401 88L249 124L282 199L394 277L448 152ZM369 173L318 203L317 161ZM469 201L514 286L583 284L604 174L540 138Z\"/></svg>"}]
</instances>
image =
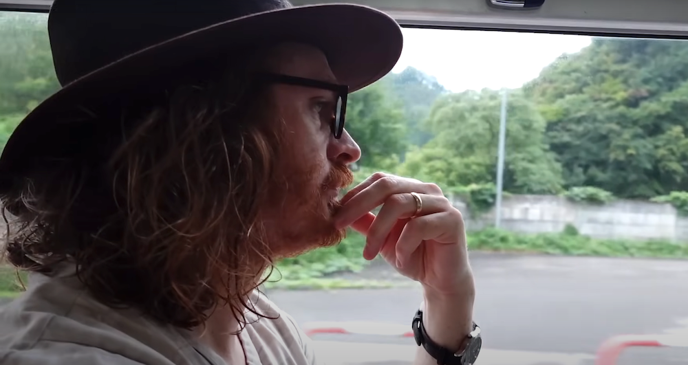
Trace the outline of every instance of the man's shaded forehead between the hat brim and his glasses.
<instances>
[{"instance_id":1,"label":"man's shaded forehead between the hat brim and his glasses","mask_svg":"<svg viewBox=\"0 0 688 365\"><path fill-rule=\"evenodd\" d=\"M281 43L268 49L266 69L277 74L336 82L325 54L303 43Z\"/></svg>"}]
</instances>

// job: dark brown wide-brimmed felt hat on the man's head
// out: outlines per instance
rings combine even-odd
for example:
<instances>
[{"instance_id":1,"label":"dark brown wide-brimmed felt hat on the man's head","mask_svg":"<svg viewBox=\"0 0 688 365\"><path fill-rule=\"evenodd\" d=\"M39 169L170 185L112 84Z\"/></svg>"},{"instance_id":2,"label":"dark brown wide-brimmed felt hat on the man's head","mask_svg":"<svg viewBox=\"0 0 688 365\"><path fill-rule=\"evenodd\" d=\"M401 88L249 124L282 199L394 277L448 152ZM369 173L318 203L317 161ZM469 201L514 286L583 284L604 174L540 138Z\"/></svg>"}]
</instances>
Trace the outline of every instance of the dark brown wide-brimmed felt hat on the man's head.
<instances>
[{"instance_id":1,"label":"dark brown wide-brimmed felt hat on the man's head","mask_svg":"<svg viewBox=\"0 0 688 365\"><path fill-rule=\"evenodd\" d=\"M403 43L396 21L373 8L286 0L55 0L48 32L62 88L10 136L0 157L0 192L36 159L59 158L88 137L70 133L83 123L73 118L79 106L136 89L161 69L294 41L321 49L338 82L356 91L391 71Z\"/></svg>"}]
</instances>

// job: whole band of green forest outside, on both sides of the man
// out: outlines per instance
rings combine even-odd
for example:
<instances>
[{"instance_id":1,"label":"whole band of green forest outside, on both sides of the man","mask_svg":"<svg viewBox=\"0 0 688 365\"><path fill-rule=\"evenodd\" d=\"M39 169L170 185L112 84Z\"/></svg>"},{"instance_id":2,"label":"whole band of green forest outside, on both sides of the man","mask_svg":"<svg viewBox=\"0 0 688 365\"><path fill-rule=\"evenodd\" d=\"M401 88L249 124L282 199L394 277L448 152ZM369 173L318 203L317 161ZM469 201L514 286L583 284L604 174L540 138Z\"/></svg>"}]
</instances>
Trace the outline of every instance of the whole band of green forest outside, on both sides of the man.
<instances>
[{"instance_id":1,"label":"whole band of green forest outside, on both sides of the man","mask_svg":"<svg viewBox=\"0 0 688 365\"><path fill-rule=\"evenodd\" d=\"M0 12L0 147L58 89L45 16ZM594 38L508 90L504 190L626 199L688 190L688 43ZM501 91L452 93L408 67L350 96L362 173L491 191Z\"/></svg>"}]
</instances>

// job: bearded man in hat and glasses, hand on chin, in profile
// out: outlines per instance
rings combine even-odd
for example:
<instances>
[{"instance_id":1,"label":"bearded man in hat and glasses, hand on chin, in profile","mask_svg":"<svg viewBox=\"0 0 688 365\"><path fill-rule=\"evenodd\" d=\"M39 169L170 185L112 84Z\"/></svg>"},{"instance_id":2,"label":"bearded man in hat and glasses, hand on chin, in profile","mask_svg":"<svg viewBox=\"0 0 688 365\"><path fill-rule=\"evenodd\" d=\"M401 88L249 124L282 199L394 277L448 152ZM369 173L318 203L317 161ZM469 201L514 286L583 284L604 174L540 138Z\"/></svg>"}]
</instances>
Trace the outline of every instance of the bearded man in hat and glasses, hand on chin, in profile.
<instances>
[{"instance_id":1,"label":"bearded man in hat and glasses, hand on chin, in profile","mask_svg":"<svg viewBox=\"0 0 688 365\"><path fill-rule=\"evenodd\" d=\"M283 0L56 0L48 26L63 89L0 159L6 256L31 272L0 311L0 364L315 364L257 287L347 227L367 235L365 258L422 283L416 364L475 360L460 212L385 174L338 201L361 154L347 93L396 63L394 20Z\"/></svg>"}]
</instances>

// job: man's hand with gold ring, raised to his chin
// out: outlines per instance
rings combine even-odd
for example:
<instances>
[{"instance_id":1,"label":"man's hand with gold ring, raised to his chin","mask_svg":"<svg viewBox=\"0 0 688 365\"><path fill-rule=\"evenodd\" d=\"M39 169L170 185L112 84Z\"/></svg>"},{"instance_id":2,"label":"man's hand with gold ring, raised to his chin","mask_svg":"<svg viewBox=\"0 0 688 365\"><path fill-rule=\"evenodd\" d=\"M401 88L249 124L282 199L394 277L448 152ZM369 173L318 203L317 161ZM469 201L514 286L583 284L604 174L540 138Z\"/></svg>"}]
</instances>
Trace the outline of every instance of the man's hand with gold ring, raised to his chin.
<instances>
[{"instance_id":1,"label":"man's hand with gold ring, raised to his chin","mask_svg":"<svg viewBox=\"0 0 688 365\"><path fill-rule=\"evenodd\" d=\"M422 201L418 214L411 192ZM464 221L436 184L375 173L347 192L342 203L335 225L366 236L367 260L381 254L400 274L422 283L426 298L472 298ZM380 204L377 216L370 212Z\"/></svg>"}]
</instances>

